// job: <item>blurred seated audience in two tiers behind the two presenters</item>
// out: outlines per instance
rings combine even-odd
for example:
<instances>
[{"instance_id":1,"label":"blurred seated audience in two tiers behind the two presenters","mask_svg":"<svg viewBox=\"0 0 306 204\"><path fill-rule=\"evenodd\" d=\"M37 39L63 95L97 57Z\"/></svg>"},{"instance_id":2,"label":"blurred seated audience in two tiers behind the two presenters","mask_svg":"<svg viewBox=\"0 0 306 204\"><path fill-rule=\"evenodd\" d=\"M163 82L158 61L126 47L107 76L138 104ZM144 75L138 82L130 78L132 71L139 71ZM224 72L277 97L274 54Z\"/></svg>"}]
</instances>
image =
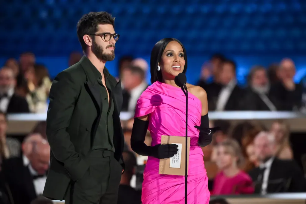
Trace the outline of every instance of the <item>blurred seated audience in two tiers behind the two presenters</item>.
<instances>
[{"instance_id":1,"label":"blurred seated audience in two tiers behind the two presenters","mask_svg":"<svg viewBox=\"0 0 306 204\"><path fill-rule=\"evenodd\" d=\"M81 53L72 52L69 66L81 57ZM131 117L137 99L149 85L146 82L148 68L146 60L132 56L123 56L118 63L123 89L122 111L130 112L121 121L125 137L125 171L121 176L118 204L141 203L138 190L141 190L147 157L131 150L134 123ZM235 61L222 54L214 54L203 64L198 85L207 92L210 111L291 111L300 108L303 83L294 83L296 70L291 59L284 58L268 69L253 66L246 88L238 86L236 69ZM50 163L45 121L39 122L22 144L6 133L6 113L46 112L50 86L47 68L36 64L33 53L22 53L19 61L9 58L0 69L0 203L52 203L39 196ZM284 121L275 121L268 132L263 132L267 131L266 124L253 121L210 121L210 127L215 126L221 129L213 135L212 143L202 148L212 195L306 191L305 178L293 161L290 128ZM151 145L149 131L145 143ZM212 199L210 203L228 202Z\"/></svg>"}]
</instances>

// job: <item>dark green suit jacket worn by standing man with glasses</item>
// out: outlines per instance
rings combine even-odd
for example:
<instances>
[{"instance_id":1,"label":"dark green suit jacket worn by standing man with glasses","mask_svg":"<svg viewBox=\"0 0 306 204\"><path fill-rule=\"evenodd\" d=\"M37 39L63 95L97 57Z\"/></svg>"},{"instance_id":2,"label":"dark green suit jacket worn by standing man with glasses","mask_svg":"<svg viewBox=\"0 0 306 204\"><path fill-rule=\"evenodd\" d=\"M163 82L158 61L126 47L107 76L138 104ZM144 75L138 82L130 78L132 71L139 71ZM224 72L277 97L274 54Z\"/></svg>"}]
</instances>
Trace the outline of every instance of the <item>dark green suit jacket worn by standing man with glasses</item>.
<instances>
[{"instance_id":1,"label":"dark green suit jacket worn by standing man with glasses","mask_svg":"<svg viewBox=\"0 0 306 204\"><path fill-rule=\"evenodd\" d=\"M99 84L96 78L90 77L90 65L89 59L82 57L78 63L60 72L50 89L47 138L51 156L43 192L47 198L63 200L69 182L82 178L89 168L84 158L91 150L102 111ZM124 169L124 137L119 118L122 106L121 83L106 68L103 73L110 83L115 106L114 157Z\"/></svg>"}]
</instances>

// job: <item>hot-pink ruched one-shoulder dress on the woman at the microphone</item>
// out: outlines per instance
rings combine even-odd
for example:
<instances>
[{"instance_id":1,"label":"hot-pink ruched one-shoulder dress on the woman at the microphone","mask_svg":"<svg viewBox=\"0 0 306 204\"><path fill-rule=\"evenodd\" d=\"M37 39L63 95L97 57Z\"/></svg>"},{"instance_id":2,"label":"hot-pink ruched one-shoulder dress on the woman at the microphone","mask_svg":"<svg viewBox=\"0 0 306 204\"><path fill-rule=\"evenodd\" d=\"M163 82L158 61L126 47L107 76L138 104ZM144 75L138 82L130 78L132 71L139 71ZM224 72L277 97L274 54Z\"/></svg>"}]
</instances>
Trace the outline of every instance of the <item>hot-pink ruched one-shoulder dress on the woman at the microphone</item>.
<instances>
[{"instance_id":1,"label":"hot-pink ruched one-shoulder dress on the woman at the microphone","mask_svg":"<svg viewBox=\"0 0 306 204\"><path fill-rule=\"evenodd\" d=\"M166 83L155 82L137 101L135 117L149 115L152 146L161 143L161 135L185 136L186 97L183 91ZM188 93L188 137L190 155L188 168L188 204L208 204L208 178L203 151L197 144L201 101ZM159 159L148 157L142 184L143 204L184 204L185 176L159 174Z\"/></svg>"}]
</instances>

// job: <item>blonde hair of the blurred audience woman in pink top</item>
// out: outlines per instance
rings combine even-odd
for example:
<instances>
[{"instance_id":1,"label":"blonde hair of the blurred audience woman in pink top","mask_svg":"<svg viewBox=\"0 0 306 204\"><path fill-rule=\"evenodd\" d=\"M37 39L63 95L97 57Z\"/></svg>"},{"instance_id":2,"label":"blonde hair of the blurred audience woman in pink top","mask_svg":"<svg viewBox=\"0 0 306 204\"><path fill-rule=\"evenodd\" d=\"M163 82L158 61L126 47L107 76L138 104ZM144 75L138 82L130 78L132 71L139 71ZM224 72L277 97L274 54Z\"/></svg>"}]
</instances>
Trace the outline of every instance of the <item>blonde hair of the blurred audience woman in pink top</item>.
<instances>
[{"instance_id":1,"label":"blonde hair of the blurred audience woman in pink top","mask_svg":"<svg viewBox=\"0 0 306 204\"><path fill-rule=\"evenodd\" d=\"M224 147L227 152L229 152L233 157L236 157L238 168L241 168L244 165L244 157L237 140L231 138L226 139L223 142L217 144L217 147Z\"/></svg>"}]
</instances>

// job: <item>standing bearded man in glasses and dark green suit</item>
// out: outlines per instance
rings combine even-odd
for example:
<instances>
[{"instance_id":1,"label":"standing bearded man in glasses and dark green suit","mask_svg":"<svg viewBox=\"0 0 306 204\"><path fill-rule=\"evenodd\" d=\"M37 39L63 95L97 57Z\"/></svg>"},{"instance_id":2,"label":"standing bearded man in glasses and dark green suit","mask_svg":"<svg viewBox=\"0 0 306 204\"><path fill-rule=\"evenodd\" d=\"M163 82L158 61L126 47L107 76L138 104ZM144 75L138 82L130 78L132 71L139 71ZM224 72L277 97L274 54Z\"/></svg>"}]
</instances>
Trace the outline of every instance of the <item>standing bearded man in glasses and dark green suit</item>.
<instances>
[{"instance_id":1,"label":"standing bearded man in glasses and dark green suit","mask_svg":"<svg viewBox=\"0 0 306 204\"><path fill-rule=\"evenodd\" d=\"M85 56L60 72L50 90L50 170L43 195L66 204L117 203L124 169L119 114L121 83L105 68L114 60L114 18L91 12L77 24Z\"/></svg>"}]
</instances>

